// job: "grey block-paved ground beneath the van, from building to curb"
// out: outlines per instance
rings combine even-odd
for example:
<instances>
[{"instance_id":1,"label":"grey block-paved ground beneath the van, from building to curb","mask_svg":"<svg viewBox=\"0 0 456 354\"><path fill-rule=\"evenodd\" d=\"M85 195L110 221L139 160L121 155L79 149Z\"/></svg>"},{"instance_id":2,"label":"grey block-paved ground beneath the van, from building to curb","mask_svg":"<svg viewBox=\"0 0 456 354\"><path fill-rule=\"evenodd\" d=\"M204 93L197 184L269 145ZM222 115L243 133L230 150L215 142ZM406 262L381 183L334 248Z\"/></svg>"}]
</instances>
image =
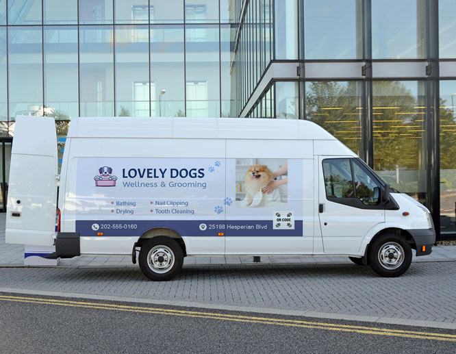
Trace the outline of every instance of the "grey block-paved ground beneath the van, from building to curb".
<instances>
[{"instance_id":1,"label":"grey block-paved ground beneath the van, from building to curb","mask_svg":"<svg viewBox=\"0 0 456 354\"><path fill-rule=\"evenodd\" d=\"M175 279L154 282L130 257L21 266L23 246L5 244L4 231L2 237L0 292L456 329L456 246L436 246L397 278L379 277L346 257L262 257L261 264L252 257L188 257Z\"/></svg>"}]
</instances>

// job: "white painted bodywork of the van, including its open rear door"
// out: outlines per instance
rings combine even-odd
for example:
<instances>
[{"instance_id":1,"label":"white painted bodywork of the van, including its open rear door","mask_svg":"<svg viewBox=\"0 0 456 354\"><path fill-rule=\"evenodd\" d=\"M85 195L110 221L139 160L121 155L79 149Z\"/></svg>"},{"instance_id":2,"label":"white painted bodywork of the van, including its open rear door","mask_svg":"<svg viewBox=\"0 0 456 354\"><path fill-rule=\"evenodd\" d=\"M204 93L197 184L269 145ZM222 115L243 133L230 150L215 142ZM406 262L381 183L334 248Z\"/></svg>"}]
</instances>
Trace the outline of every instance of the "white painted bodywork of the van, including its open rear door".
<instances>
[{"instance_id":1,"label":"white painted bodywork of the van, including its open rear door","mask_svg":"<svg viewBox=\"0 0 456 354\"><path fill-rule=\"evenodd\" d=\"M49 246L55 236L57 191L54 121L53 118L18 117L17 122L12 151L7 242ZM25 123L27 129L23 128ZM60 179L61 231L80 235L81 254L131 255L140 236L149 229L160 227L173 230L182 237L187 255L362 256L368 242L382 229L429 228L426 209L405 194L392 193L400 210L360 209L328 201L322 160L339 157L357 155L310 121L73 118L66 138ZM238 198L241 193L236 188L238 181L244 180L246 168L251 164L265 164L273 166L272 172L285 166L285 162L288 171L281 178L288 178L286 195L271 202L274 207L262 209L242 205L243 201ZM207 180L215 187L193 192L166 189L170 194L164 195L156 188L138 192L123 184L132 180L128 173L135 168L138 171L159 166L173 169L171 167L177 164L184 167L203 164L205 178L210 176L211 179ZM99 186L96 178L101 177L97 176L97 170L103 166L115 168L118 185L114 183L113 186L121 188L98 188L105 187ZM30 183L32 175L34 179ZM37 191L39 195L36 195ZM17 204L18 198L27 203L23 204L21 200L21 204ZM205 211L198 214L201 220L198 215L162 213L157 201L164 199L187 199L197 205L197 212L200 212L201 205ZM142 203L142 209L137 208L131 214L118 214L114 207L118 201ZM318 211L320 203L325 205L323 213ZM26 206L33 212L27 212ZM18 223L12 217L14 211L27 218L21 215L23 222ZM410 215L403 216L404 211ZM160 218L153 217L158 214ZM279 224L274 225L273 220L279 214L292 220L288 224L292 229L279 229ZM232 227L251 222L258 223L257 230ZM101 232L105 230L98 227L103 227L103 223L105 229L116 223L140 227L136 233L114 232L113 229ZM264 234L262 225L266 223L270 223L270 228ZM210 226L215 229L208 232L203 229L203 224L204 227L207 224L208 229Z\"/></svg>"}]
</instances>

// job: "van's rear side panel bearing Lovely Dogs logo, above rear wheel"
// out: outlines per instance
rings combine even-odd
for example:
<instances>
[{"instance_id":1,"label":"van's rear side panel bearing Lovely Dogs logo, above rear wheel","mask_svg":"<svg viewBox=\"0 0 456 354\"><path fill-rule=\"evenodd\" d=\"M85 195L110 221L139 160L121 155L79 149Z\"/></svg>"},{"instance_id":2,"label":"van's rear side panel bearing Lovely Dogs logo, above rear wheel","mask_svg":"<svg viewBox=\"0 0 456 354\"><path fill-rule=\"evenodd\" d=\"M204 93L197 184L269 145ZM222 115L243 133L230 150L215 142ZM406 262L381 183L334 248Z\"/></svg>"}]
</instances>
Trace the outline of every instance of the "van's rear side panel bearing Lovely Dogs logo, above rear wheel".
<instances>
[{"instance_id":1,"label":"van's rear side panel bearing Lovely Dogs logo, above rear wheel","mask_svg":"<svg viewBox=\"0 0 456 354\"><path fill-rule=\"evenodd\" d=\"M80 234L81 253L130 254L145 232L168 228L189 255L224 254L224 237L209 225L225 225L216 209L225 140L71 138L70 149L64 229Z\"/></svg>"}]
</instances>

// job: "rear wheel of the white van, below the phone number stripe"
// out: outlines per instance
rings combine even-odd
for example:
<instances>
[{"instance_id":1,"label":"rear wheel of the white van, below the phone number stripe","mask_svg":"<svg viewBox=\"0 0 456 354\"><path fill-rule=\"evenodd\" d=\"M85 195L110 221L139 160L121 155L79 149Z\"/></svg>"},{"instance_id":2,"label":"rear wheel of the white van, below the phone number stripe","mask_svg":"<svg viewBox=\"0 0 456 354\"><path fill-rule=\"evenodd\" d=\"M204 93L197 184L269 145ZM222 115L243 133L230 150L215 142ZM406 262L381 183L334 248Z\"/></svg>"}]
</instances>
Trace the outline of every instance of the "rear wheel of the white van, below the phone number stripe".
<instances>
[{"instance_id":1,"label":"rear wheel of the white van, below the phone number stripe","mask_svg":"<svg viewBox=\"0 0 456 354\"><path fill-rule=\"evenodd\" d=\"M157 236L141 247L139 266L142 273L151 280L173 279L180 272L182 264L181 246L173 238Z\"/></svg>"}]
</instances>

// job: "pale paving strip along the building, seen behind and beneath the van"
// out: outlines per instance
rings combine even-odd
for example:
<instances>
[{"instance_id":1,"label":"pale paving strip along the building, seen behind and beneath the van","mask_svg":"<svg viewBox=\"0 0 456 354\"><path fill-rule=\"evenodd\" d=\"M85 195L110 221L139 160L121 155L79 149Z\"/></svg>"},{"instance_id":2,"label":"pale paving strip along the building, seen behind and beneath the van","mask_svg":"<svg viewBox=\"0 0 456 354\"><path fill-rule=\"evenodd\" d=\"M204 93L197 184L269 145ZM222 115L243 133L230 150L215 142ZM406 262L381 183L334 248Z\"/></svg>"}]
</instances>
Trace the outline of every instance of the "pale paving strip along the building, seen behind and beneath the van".
<instances>
[{"instance_id":1,"label":"pale paving strip along the building, seen behind and beneath the van","mask_svg":"<svg viewBox=\"0 0 456 354\"><path fill-rule=\"evenodd\" d=\"M448 262L456 261L456 246L433 246L431 255L413 257L412 262ZM184 266L201 265L236 265L253 264L253 257L186 257ZM340 256L301 256L301 257L261 257L262 264L352 264L348 257ZM0 266L23 266L24 246L22 244L5 244L5 213L0 214ZM93 267L114 266L127 267L131 256L89 256L83 255L60 260L58 267Z\"/></svg>"}]
</instances>

